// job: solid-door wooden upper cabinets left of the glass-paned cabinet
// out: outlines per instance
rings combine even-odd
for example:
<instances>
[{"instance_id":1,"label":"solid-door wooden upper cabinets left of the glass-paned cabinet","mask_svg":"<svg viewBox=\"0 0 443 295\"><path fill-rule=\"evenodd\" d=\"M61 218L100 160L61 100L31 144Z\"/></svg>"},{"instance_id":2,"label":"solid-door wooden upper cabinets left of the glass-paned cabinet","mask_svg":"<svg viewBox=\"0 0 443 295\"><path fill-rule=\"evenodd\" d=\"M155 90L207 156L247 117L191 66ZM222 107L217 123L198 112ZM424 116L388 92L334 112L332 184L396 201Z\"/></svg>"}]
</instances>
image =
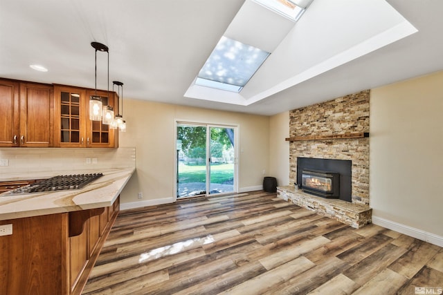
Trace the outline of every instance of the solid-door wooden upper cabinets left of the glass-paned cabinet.
<instances>
[{"instance_id":1,"label":"solid-door wooden upper cabinets left of the glass-paned cabinet","mask_svg":"<svg viewBox=\"0 0 443 295\"><path fill-rule=\"evenodd\" d=\"M0 146L53 146L51 85L0 80L0 113Z\"/></svg>"}]
</instances>

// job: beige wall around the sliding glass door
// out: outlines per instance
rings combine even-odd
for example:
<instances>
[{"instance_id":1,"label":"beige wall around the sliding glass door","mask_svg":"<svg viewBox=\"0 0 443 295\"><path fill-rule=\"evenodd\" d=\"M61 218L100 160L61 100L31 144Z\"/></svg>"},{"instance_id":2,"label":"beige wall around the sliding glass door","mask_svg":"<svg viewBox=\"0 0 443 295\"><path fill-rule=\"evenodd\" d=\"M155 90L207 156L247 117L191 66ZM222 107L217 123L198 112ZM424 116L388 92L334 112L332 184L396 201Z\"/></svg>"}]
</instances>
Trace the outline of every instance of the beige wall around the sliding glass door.
<instances>
[{"instance_id":1,"label":"beige wall around the sliding glass door","mask_svg":"<svg viewBox=\"0 0 443 295\"><path fill-rule=\"evenodd\" d=\"M174 198L175 120L237 125L239 191L262 189L262 171L269 171L269 117L134 99L125 99L123 115L127 132L120 133L119 145L136 147L136 173L122 193L123 205L158 204ZM142 200L138 192L143 193Z\"/></svg>"}]
</instances>

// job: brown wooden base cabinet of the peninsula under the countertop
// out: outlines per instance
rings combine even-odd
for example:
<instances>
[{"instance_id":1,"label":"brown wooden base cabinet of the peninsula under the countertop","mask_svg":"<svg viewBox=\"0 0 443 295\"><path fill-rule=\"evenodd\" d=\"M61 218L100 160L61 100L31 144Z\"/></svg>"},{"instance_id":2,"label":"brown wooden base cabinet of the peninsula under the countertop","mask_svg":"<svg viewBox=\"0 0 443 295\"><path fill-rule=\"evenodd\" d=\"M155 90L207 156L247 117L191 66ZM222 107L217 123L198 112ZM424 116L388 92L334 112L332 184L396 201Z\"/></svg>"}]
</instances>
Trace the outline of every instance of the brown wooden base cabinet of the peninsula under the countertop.
<instances>
[{"instance_id":1,"label":"brown wooden base cabinet of the peninsula under the countertop","mask_svg":"<svg viewBox=\"0 0 443 295\"><path fill-rule=\"evenodd\" d=\"M107 224L95 245L89 226L98 231L99 222L87 220L83 232L70 237L69 213L0 221L12 225L12 235L0 236L0 294L81 294L117 218L118 207L111 207L113 214L102 213Z\"/></svg>"}]
</instances>

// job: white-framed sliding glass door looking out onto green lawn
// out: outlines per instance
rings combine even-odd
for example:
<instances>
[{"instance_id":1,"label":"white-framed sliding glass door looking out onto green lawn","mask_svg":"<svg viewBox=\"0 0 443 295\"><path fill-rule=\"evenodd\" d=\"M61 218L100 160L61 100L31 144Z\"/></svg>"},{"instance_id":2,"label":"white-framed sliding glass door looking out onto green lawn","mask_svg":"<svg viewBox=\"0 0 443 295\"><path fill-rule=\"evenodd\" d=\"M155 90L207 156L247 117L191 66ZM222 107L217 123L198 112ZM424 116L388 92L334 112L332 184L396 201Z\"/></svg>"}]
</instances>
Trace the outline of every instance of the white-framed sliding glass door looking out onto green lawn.
<instances>
[{"instance_id":1,"label":"white-framed sliding glass door looking out onto green lawn","mask_svg":"<svg viewBox=\"0 0 443 295\"><path fill-rule=\"evenodd\" d=\"M177 198L236 191L235 129L177 123Z\"/></svg>"}]
</instances>

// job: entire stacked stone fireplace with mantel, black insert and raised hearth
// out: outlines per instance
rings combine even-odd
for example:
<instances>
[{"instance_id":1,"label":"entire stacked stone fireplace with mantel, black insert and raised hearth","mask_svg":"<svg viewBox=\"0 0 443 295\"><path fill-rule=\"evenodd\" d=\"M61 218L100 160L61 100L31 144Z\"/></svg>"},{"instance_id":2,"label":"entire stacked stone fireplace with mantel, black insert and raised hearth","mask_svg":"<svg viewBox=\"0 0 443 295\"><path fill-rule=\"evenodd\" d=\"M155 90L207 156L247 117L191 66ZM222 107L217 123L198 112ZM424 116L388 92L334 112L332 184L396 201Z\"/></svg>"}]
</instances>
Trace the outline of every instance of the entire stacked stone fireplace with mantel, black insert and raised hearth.
<instances>
[{"instance_id":1,"label":"entire stacked stone fireplace with mantel, black insert and raised hearth","mask_svg":"<svg viewBox=\"0 0 443 295\"><path fill-rule=\"evenodd\" d=\"M294 185L279 187L280 198L353 227L370 223L369 100L370 91L362 91L289 112L289 178ZM347 170L332 169L329 164L335 161L346 163ZM312 177L315 173L320 174Z\"/></svg>"}]
</instances>

